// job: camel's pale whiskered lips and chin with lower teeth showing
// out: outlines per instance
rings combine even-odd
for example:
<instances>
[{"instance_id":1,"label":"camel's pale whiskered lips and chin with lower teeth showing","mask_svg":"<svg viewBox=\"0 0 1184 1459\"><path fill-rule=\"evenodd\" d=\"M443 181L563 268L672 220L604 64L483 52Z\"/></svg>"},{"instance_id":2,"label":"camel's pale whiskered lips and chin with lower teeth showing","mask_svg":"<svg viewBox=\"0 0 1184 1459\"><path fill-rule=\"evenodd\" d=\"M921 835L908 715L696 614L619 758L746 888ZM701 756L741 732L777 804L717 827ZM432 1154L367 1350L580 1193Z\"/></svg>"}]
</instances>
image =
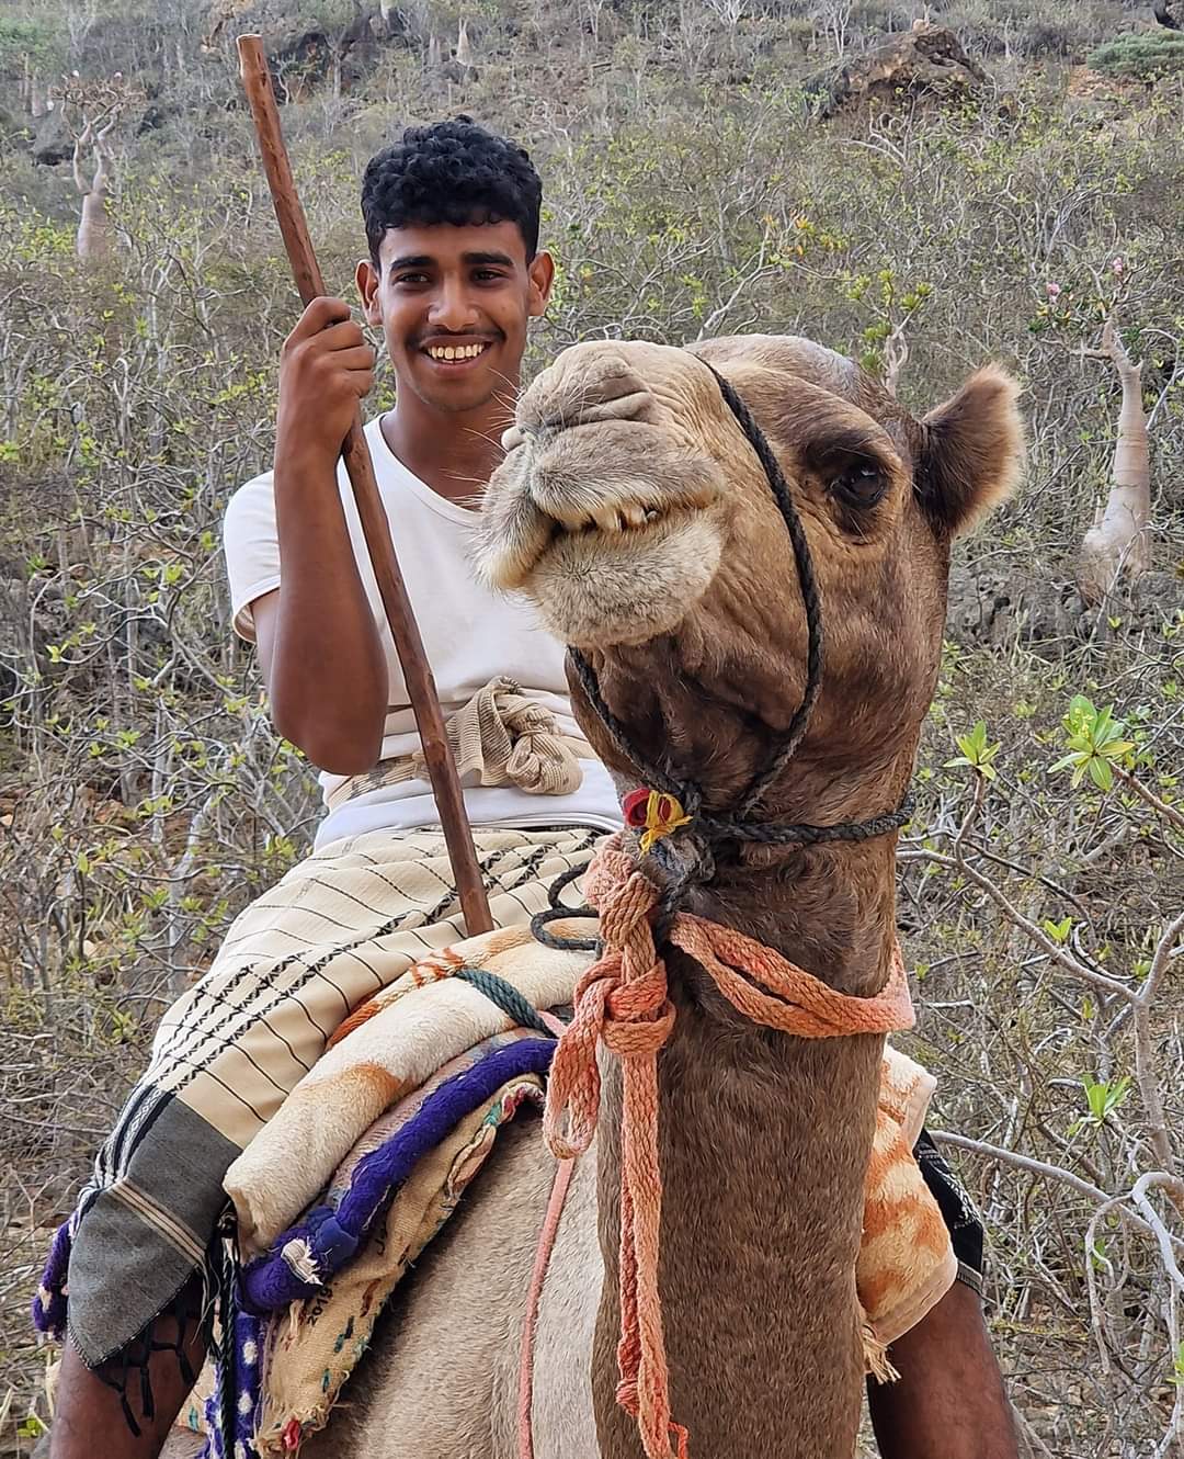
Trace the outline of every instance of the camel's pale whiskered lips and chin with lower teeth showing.
<instances>
[{"instance_id":1,"label":"camel's pale whiskered lips and chin with lower teeth showing","mask_svg":"<svg viewBox=\"0 0 1184 1459\"><path fill-rule=\"evenodd\" d=\"M714 471L684 461L677 476L640 476L636 458L630 465L631 479L609 484L602 455L569 455L556 468L526 449L490 483L486 579L528 594L547 627L577 648L672 632L719 566Z\"/></svg>"}]
</instances>

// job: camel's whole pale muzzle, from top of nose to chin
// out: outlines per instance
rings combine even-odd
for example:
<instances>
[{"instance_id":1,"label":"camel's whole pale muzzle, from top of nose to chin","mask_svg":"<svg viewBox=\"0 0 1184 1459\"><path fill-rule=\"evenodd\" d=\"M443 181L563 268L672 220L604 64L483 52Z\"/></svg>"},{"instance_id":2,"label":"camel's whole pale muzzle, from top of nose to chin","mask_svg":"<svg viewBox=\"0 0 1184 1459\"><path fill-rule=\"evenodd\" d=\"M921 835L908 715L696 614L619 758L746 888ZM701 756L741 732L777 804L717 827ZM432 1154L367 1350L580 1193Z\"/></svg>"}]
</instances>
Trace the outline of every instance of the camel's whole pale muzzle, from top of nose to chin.
<instances>
[{"instance_id":1,"label":"camel's whole pale muzzle, from top of nose to chin","mask_svg":"<svg viewBox=\"0 0 1184 1459\"><path fill-rule=\"evenodd\" d=\"M634 369L642 356L661 366L656 384ZM502 438L480 568L576 648L672 633L719 568L725 473L694 401L662 384L672 368L687 356L666 346L573 346Z\"/></svg>"}]
</instances>

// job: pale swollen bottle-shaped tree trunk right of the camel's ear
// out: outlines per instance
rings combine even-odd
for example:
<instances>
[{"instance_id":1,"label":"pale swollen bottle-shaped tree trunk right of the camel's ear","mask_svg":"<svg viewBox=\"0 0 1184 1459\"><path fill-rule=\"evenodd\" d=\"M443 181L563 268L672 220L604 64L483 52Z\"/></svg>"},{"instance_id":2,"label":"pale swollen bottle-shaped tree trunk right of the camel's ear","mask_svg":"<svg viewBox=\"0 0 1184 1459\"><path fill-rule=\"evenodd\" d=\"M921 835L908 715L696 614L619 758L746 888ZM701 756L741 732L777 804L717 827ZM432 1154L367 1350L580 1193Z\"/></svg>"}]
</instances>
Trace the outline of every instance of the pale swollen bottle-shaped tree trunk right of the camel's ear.
<instances>
[{"instance_id":1,"label":"pale swollen bottle-shaped tree trunk right of the camel's ear","mask_svg":"<svg viewBox=\"0 0 1184 1459\"><path fill-rule=\"evenodd\" d=\"M1150 451L1140 378L1143 366L1132 362L1113 320L1107 320L1102 330L1101 350L1089 350L1088 355L1110 360L1123 387L1113 484L1078 554L1078 591L1083 603L1097 605L1120 581L1133 584L1150 568Z\"/></svg>"}]
</instances>

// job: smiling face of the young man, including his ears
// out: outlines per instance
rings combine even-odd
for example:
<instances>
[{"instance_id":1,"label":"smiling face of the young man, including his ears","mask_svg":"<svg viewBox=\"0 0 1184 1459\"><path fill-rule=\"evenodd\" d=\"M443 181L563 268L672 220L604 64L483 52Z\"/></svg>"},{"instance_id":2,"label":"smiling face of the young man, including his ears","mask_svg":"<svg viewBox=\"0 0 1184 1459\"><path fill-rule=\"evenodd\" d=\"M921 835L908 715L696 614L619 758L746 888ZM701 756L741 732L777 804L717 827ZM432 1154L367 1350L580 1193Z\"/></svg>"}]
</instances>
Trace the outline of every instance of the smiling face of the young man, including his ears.
<instances>
[{"instance_id":1,"label":"smiling face of the young man, including his ears","mask_svg":"<svg viewBox=\"0 0 1184 1459\"><path fill-rule=\"evenodd\" d=\"M509 413L553 273L548 254L526 258L516 223L433 223L386 229L379 268L359 264L357 285L401 385L436 410L502 398Z\"/></svg>"}]
</instances>

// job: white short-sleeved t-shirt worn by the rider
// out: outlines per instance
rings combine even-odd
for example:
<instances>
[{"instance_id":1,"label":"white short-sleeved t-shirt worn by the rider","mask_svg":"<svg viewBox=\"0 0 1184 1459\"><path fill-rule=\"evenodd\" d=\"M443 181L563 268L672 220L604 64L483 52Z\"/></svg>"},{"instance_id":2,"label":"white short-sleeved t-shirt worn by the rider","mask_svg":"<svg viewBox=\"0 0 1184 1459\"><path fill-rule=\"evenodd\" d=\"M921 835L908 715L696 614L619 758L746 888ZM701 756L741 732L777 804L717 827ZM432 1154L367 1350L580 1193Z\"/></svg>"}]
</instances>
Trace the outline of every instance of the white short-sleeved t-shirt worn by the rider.
<instances>
[{"instance_id":1,"label":"white short-sleeved t-shirt worn by the rider","mask_svg":"<svg viewBox=\"0 0 1184 1459\"><path fill-rule=\"evenodd\" d=\"M572 718L563 645L540 626L529 603L494 594L477 581L472 570L475 514L433 492L407 470L386 445L381 417L366 426L366 441L445 719L494 676L505 674L521 686L523 694L556 715L561 734L582 738ZM381 759L388 760L411 754L420 740L344 464L338 465L337 483L354 557L386 654L389 709ZM251 604L280 585L280 543L270 471L257 476L230 498L223 546L235 632L254 642ZM465 785L470 820L474 826L595 826L617 830L621 811L608 772L593 759L582 759L580 767L583 782L570 795L529 795L518 786ZM341 775L321 773L327 801L344 781ZM338 805L318 827L316 846L370 830L413 830L437 823L430 785L426 781L404 781Z\"/></svg>"}]
</instances>

